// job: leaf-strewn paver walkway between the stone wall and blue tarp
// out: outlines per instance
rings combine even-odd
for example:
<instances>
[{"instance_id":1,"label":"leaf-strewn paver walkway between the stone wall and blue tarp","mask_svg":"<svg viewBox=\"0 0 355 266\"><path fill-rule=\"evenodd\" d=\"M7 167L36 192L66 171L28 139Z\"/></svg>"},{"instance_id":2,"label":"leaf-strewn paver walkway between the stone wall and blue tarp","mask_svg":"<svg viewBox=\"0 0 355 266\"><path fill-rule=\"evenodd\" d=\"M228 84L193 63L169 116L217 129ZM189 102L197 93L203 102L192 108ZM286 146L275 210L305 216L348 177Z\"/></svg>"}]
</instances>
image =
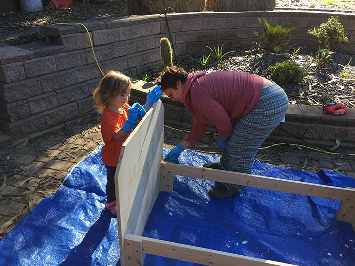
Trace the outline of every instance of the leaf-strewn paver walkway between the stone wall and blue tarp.
<instances>
[{"instance_id":1,"label":"leaf-strewn paver walkway between the stone wall and blue tarp","mask_svg":"<svg viewBox=\"0 0 355 266\"><path fill-rule=\"evenodd\" d=\"M187 133L165 128L164 146L174 147ZM195 150L220 155L216 135L208 133ZM0 240L45 197L63 177L102 142L96 113L67 122L61 128L27 138L0 150ZM270 143L264 143L266 146ZM318 172L337 171L355 177L355 156L331 155L295 146L278 145L259 150L257 160L283 167ZM326 152L332 152L325 150ZM336 153L340 153L337 149ZM343 150L342 154L355 154Z\"/></svg>"}]
</instances>

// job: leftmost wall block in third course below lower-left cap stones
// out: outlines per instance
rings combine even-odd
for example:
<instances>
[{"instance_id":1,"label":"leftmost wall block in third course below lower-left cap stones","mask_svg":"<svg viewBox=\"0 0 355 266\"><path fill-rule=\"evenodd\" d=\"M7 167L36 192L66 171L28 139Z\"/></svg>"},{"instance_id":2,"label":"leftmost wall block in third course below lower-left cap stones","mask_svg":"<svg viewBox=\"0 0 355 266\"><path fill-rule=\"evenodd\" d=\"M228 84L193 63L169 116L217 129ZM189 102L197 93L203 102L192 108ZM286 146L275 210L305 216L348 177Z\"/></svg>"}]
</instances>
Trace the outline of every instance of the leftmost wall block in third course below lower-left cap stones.
<instances>
[{"instance_id":1,"label":"leftmost wall block in third course below lower-left cap stones","mask_svg":"<svg viewBox=\"0 0 355 266\"><path fill-rule=\"evenodd\" d=\"M11 103L0 102L0 117L9 122L15 122L30 116L27 100Z\"/></svg>"}]
</instances>

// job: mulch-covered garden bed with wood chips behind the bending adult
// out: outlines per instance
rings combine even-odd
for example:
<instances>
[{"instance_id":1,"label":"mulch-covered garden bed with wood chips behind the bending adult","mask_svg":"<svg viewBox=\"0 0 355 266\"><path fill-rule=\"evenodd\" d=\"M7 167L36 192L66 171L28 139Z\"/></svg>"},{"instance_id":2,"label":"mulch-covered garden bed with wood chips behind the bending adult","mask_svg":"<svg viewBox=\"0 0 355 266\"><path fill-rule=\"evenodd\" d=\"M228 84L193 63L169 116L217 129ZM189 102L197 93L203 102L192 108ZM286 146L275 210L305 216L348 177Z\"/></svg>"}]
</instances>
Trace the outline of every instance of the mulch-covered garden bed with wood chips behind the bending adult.
<instances>
[{"instance_id":1,"label":"mulch-covered garden bed with wood chips behind the bending adult","mask_svg":"<svg viewBox=\"0 0 355 266\"><path fill-rule=\"evenodd\" d=\"M204 54L209 52L187 55L183 59L173 62L182 66L187 72L206 72L232 70L250 72L270 78L269 66L287 60L296 62L306 71L306 76L297 83L282 84L291 104L306 104L322 106L326 100L334 99L347 107L355 107L355 55L336 52L333 59L325 68L319 68L316 63L315 52L311 48L292 47L282 53L264 52L248 47L234 47L233 53L224 57L218 66L217 61L210 56L206 67L201 66ZM223 53L227 52L227 49ZM161 68L152 68L146 76L139 78L154 82ZM145 73L144 73L145 74Z\"/></svg>"}]
</instances>

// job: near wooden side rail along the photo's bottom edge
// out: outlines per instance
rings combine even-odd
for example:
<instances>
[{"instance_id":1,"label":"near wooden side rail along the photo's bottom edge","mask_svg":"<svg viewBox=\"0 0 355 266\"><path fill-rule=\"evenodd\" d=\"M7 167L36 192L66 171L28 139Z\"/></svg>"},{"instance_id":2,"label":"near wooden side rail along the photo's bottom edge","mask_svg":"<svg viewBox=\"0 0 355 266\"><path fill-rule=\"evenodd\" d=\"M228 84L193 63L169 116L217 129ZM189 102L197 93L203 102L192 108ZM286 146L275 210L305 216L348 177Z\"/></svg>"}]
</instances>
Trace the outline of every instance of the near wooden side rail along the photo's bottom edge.
<instances>
[{"instance_id":1,"label":"near wooden side rail along the photo's bottom edge","mask_svg":"<svg viewBox=\"0 0 355 266\"><path fill-rule=\"evenodd\" d=\"M182 261L194 262L203 265L215 266L292 266L282 262L265 259L258 259L249 256L237 255L228 252L217 251L208 248L200 248L164 240L158 240L137 235L127 235L130 240L142 240L142 251L144 253L173 258ZM140 264L137 264L137 266Z\"/></svg>"}]
</instances>

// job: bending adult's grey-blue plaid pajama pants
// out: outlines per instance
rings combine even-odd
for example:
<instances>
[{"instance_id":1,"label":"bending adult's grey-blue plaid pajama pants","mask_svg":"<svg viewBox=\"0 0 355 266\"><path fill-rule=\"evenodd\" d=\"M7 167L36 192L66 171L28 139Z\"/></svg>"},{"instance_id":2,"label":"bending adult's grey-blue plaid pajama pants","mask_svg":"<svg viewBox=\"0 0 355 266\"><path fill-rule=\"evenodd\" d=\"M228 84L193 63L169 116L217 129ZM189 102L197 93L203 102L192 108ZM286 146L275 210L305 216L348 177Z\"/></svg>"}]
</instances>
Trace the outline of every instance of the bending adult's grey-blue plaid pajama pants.
<instances>
[{"instance_id":1,"label":"bending adult's grey-blue plaid pajama pants","mask_svg":"<svg viewBox=\"0 0 355 266\"><path fill-rule=\"evenodd\" d=\"M287 95L279 85L273 83L264 87L254 109L234 124L228 150L223 151L219 169L250 174L258 149L284 118L287 108ZM225 185L229 189L242 188Z\"/></svg>"}]
</instances>

